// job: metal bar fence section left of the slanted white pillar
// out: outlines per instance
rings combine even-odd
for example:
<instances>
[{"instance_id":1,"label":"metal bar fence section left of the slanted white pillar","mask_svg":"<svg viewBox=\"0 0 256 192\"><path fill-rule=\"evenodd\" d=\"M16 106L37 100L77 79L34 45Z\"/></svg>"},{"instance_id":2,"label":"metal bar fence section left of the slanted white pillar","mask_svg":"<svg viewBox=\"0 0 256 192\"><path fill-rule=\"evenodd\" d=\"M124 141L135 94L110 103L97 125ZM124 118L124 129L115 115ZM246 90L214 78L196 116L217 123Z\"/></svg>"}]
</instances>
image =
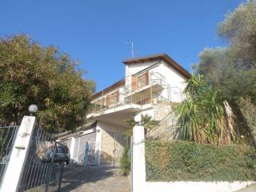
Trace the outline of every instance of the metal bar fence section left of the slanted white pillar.
<instances>
[{"instance_id":1,"label":"metal bar fence section left of the slanted white pillar","mask_svg":"<svg viewBox=\"0 0 256 192\"><path fill-rule=\"evenodd\" d=\"M0 124L0 185L10 160L10 152L14 146L17 130L16 123Z\"/></svg>"}]
</instances>

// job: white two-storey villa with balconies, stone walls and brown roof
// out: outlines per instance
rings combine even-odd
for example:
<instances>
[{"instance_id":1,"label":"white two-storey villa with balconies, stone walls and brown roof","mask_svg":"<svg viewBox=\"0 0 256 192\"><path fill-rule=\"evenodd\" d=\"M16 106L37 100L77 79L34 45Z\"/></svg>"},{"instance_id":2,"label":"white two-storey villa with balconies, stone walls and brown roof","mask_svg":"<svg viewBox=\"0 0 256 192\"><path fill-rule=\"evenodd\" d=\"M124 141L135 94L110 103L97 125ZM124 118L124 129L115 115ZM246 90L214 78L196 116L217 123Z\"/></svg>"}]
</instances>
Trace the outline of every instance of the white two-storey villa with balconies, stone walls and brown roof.
<instances>
[{"instance_id":1,"label":"white two-storey villa with balconies, stone walls and brown roof","mask_svg":"<svg viewBox=\"0 0 256 192\"><path fill-rule=\"evenodd\" d=\"M74 134L63 133L74 162L85 165L118 165L124 147L129 145L124 122L134 114L149 114L159 121L147 138L171 140L175 134L172 106L182 101L184 82L190 73L167 54L129 58L125 77L91 98L90 121Z\"/></svg>"}]
</instances>

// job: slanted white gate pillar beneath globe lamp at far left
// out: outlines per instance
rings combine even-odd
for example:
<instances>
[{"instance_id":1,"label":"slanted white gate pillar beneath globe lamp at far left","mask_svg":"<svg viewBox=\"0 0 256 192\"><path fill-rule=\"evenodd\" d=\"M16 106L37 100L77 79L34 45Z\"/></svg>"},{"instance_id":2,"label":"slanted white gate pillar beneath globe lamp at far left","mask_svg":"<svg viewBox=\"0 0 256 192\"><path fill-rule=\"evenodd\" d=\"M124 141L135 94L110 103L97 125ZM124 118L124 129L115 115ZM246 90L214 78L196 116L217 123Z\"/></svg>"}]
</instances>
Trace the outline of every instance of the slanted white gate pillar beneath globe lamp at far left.
<instances>
[{"instance_id":1,"label":"slanted white gate pillar beneath globe lamp at far left","mask_svg":"<svg viewBox=\"0 0 256 192\"><path fill-rule=\"evenodd\" d=\"M30 149L30 141L33 135L35 117L24 116L22 124L18 128L14 148L10 154L6 174L4 175L1 192L16 192L22 179L26 158Z\"/></svg>"}]
</instances>

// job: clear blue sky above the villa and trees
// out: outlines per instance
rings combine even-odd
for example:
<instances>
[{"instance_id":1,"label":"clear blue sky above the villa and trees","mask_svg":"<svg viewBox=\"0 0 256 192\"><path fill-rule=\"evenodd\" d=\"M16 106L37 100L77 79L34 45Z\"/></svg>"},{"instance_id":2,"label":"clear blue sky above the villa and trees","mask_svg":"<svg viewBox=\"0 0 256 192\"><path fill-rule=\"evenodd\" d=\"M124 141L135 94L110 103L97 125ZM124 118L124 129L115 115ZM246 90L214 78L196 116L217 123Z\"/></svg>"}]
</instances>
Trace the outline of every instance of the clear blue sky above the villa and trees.
<instances>
[{"instance_id":1,"label":"clear blue sky above the villa and trees","mask_svg":"<svg viewBox=\"0 0 256 192\"><path fill-rule=\"evenodd\" d=\"M80 61L102 90L124 77L122 60L166 53L186 70L205 47L224 46L217 25L242 0L2 0L0 38L29 34ZM244 1L245 2L245 1Z\"/></svg>"}]
</instances>

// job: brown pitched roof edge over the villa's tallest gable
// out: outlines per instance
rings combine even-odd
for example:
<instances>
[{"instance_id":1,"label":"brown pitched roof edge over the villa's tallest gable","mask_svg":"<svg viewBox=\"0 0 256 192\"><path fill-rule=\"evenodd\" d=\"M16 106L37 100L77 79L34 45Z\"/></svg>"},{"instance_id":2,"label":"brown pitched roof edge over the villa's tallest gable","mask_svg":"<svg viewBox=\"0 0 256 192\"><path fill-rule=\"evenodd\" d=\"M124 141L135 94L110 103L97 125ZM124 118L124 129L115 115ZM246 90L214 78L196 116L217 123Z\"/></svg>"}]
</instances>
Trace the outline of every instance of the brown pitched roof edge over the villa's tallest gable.
<instances>
[{"instance_id":1,"label":"brown pitched roof edge over the villa's tallest gable","mask_svg":"<svg viewBox=\"0 0 256 192\"><path fill-rule=\"evenodd\" d=\"M174 59L170 58L167 54L150 54L145 57L128 58L124 60L123 63L126 65L130 65L130 64L136 64L136 63L142 63L142 62L152 62L160 59L167 62L170 66L172 66L175 70L177 70L180 74L182 74L186 78L191 78L191 74L187 70L185 70L182 66L178 65L178 63L175 62Z\"/></svg>"}]
</instances>

